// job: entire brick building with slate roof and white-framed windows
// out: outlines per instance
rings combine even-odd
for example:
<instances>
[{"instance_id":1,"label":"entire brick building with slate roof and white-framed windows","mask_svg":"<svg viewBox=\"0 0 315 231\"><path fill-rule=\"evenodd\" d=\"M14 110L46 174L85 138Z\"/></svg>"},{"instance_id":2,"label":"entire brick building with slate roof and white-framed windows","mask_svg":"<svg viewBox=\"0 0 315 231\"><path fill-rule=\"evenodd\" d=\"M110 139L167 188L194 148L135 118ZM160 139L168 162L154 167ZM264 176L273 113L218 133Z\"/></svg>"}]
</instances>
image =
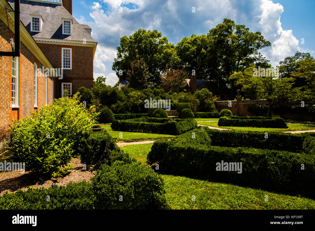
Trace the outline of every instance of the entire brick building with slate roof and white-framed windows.
<instances>
[{"instance_id":1,"label":"entire brick building with slate roof and white-framed windows","mask_svg":"<svg viewBox=\"0 0 315 231\"><path fill-rule=\"evenodd\" d=\"M91 28L72 17L72 0L52 1L20 0L20 57L0 57L0 141L12 118L29 116L65 89L71 96L93 87ZM14 12L6 9L14 10L14 0L0 0L0 50L12 51Z\"/></svg>"}]
</instances>

